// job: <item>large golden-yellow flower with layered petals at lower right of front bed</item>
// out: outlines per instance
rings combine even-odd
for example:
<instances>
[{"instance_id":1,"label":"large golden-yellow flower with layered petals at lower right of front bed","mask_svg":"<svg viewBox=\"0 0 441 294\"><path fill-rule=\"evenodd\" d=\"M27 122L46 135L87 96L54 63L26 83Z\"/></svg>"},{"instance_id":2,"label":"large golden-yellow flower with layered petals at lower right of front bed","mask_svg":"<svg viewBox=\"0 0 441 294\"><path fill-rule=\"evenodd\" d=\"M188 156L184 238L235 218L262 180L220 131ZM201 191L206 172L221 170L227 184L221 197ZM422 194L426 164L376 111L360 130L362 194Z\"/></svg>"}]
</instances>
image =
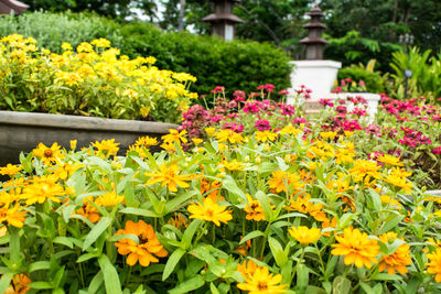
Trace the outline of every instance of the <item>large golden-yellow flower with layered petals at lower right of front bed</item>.
<instances>
[{"instance_id":1,"label":"large golden-yellow flower with layered petals at lower right of front bed","mask_svg":"<svg viewBox=\"0 0 441 294\"><path fill-rule=\"evenodd\" d=\"M334 249L331 254L345 255L344 263L346 265L355 263L357 268L365 265L370 269L372 263L378 262L375 258L379 253L379 246L377 240L368 238L367 233L362 233L358 229L348 227L344 229L343 236L335 236L338 243L332 244Z\"/></svg>"}]
</instances>

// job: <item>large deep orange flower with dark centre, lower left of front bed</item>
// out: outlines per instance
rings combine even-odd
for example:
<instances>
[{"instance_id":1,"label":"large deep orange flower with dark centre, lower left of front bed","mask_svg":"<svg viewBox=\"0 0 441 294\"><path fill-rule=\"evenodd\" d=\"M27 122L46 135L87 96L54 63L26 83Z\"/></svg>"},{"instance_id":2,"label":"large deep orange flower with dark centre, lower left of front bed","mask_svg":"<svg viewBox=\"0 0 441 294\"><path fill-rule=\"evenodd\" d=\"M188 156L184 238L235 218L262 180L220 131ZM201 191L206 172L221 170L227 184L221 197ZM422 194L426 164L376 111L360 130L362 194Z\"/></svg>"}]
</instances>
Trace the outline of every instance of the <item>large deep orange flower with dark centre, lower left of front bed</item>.
<instances>
[{"instance_id":1,"label":"large deep orange flower with dark centre, lower left of front bed","mask_svg":"<svg viewBox=\"0 0 441 294\"><path fill-rule=\"evenodd\" d=\"M135 265L138 261L142 266L149 266L151 262L159 262L158 258L168 255L166 250L158 240L152 226L140 220L133 222L128 220L125 229L120 229L116 235L135 235L139 239L139 243L132 239L121 239L115 246L118 253L127 255L127 264Z\"/></svg>"}]
</instances>

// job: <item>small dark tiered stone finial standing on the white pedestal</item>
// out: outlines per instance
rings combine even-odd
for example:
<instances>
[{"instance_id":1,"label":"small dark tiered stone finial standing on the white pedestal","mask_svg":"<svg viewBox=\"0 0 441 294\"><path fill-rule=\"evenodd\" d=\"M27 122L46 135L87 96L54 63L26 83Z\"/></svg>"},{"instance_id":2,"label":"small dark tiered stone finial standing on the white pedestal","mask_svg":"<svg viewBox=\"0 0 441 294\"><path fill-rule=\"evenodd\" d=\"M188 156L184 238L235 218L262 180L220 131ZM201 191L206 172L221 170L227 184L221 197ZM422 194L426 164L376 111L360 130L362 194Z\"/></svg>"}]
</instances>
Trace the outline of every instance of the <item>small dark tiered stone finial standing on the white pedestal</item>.
<instances>
[{"instance_id":1,"label":"small dark tiered stone finial standing on the white pedestal","mask_svg":"<svg viewBox=\"0 0 441 294\"><path fill-rule=\"evenodd\" d=\"M311 17L311 21L303 25L308 30L308 36L300 40L300 43L306 46L305 59L323 59L323 47L329 43L322 37L323 30L326 29L326 25L320 22L323 11L315 6L306 15Z\"/></svg>"}]
</instances>

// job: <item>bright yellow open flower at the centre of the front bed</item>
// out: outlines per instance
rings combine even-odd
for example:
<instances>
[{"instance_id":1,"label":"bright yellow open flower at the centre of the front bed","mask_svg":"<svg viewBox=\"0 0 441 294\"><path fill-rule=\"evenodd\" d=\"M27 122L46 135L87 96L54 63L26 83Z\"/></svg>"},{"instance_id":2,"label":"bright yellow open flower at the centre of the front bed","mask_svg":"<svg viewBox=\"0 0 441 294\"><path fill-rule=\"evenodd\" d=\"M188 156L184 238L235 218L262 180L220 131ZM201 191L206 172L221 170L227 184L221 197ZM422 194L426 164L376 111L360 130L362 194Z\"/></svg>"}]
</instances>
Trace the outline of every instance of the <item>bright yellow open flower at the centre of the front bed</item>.
<instances>
[{"instance_id":1,"label":"bright yellow open flower at the centre of the front bed","mask_svg":"<svg viewBox=\"0 0 441 294\"><path fill-rule=\"evenodd\" d=\"M190 218L213 221L217 227L220 226L220 221L227 224L233 219L232 211L226 210L226 206L213 203L209 197L205 198L203 204L191 204L187 209L192 214Z\"/></svg>"}]
</instances>

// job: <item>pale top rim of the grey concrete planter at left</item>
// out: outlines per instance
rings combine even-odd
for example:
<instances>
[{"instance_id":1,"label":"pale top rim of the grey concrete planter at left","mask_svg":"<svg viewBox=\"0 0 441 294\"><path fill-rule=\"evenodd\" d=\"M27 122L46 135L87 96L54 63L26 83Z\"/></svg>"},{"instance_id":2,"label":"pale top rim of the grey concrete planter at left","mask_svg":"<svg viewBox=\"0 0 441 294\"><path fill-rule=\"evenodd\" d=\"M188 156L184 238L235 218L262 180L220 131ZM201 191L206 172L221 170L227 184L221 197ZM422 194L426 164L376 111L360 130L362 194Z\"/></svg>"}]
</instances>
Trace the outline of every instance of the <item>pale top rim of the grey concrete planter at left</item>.
<instances>
[{"instance_id":1,"label":"pale top rim of the grey concrete planter at left","mask_svg":"<svg viewBox=\"0 0 441 294\"><path fill-rule=\"evenodd\" d=\"M94 130L112 132L168 133L179 126L166 122L106 119L68 115L2 111L1 124L37 126L55 129Z\"/></svg>"}]
</instances>

